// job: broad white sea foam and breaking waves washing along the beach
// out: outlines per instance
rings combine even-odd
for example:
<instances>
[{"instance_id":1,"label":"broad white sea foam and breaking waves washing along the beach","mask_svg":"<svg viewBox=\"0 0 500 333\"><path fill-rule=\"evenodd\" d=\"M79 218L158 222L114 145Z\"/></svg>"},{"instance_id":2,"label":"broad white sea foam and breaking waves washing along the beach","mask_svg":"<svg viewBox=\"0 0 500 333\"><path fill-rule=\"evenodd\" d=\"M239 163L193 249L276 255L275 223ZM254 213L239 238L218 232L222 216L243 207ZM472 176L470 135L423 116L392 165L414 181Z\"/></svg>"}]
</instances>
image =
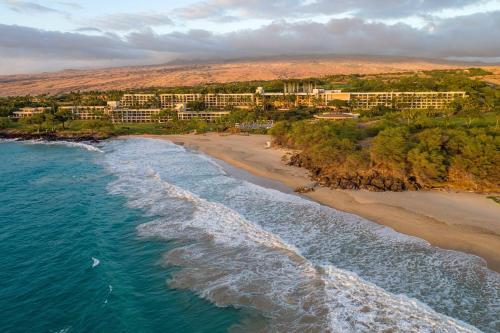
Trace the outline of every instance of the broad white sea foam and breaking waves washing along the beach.
<instances>
[{"instance_id":1,"label":"broad white sea foam and breaking waves washing along the beach","mask_svg":"<svg viewBox=\"0 0 500 333\"><path fill-rule=\"evenodd\" d=\"M257 309L270 331L477 331L435 309L498 327L500 280L474 257L233 180L168 143L110 145L109 191L154 218L140 235L179 242L165 255L175 288Z\"/></svg>"}]
</instances>

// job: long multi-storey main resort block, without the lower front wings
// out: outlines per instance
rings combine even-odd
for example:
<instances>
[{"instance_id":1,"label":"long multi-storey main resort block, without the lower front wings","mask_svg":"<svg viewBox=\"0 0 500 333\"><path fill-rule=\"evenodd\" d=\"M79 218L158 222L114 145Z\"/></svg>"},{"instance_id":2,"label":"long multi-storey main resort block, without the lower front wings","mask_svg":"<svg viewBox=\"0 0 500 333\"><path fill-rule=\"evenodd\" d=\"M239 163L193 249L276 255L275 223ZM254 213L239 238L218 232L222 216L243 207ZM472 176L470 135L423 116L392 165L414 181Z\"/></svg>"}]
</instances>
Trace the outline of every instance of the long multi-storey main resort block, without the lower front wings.
<instances>
[{"instance_id":1,"label":"long multi-storey main resort block, without the lower front wings","mask_svg":"<svg viewBox=\"0 0 500 333\"><path fill-rule=\"evenodd\" d=\"M316 88L312 82L286 82L283 92L266 92L262 87L255 93L235 94L125 94L119 102L123 108L188 109L190 103L200 102L204 109L251 109L255 106L271 105L275 109L290 109L306 106L330 108L345 102L353 109L371 109L377 106L410 109L442 109L455 98L466 97L463 91L448 92L342 92Z\"/></svg>"}]
</instances>

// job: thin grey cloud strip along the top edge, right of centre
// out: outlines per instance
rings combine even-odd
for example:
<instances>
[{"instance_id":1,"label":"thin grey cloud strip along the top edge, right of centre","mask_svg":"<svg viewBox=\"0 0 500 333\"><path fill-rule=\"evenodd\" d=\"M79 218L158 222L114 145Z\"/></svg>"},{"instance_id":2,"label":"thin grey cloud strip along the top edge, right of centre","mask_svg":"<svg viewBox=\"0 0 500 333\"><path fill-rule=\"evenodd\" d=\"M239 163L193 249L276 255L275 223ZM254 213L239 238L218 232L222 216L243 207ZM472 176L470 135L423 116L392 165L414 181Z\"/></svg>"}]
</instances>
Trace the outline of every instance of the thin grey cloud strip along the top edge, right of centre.
<instances>
[{"instance_id":1,"label":"thin grey cloud strip along the top edge, right of centre","mask_svg":"<svg viewBox=\"0 0 500 333\"><path fill-rule=\"evenodd\" d=\"M364 18L402 18L463 8L484 0L206 0L179 8L184 19L300 18L353 13Z\"/></svg>"}]
</instances>

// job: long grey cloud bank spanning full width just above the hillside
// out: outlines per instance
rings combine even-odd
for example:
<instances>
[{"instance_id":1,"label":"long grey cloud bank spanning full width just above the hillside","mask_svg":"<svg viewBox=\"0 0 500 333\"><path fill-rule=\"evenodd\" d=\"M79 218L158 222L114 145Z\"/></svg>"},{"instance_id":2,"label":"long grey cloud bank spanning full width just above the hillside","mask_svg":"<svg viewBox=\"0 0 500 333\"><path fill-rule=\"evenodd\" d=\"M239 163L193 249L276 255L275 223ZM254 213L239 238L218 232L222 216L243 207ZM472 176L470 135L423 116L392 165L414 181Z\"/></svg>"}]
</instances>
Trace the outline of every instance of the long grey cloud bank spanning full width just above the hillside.
<instances>
[{"instance_id":1,"label":"long grey cloud bank spanning full width just above the hillside","mask_svg":"<svg viewBox=\"0 0 500 333\"><path fill-rule=\"evenodd\" d=\"M361 18L275 21L257 29L213 33L206 30L155 33L152 29L87 35L0 24L0 71L47 70L46 59L65 67L154 64L174 59L337 54L453 59L498 59L500 11L435 19L421 29ZM57 68L56 68L57 69ZM19 71L19 70L17 70Z\"/></svg>"}]
</instances>

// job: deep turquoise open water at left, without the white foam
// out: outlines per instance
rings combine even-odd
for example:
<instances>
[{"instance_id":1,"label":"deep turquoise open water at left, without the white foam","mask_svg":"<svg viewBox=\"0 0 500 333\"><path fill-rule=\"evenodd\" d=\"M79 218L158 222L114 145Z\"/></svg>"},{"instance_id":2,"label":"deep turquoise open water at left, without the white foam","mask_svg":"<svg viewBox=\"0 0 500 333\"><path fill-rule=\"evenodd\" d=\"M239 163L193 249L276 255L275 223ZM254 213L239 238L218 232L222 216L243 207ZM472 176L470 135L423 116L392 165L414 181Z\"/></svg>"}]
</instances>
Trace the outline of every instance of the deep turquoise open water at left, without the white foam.
<instances>
[{"instance_id":1,"label":"deep turquoise open water at left, without the white foam","mask_svg":"<svg viewBox=\"0 0 500 333\"><path fill-rule=\"evenodd\" d=\"M0 143L0 332L226 331L236 310L167 288L172 244L138 237L100 155Z\"/></svg>"}]
</instances>

